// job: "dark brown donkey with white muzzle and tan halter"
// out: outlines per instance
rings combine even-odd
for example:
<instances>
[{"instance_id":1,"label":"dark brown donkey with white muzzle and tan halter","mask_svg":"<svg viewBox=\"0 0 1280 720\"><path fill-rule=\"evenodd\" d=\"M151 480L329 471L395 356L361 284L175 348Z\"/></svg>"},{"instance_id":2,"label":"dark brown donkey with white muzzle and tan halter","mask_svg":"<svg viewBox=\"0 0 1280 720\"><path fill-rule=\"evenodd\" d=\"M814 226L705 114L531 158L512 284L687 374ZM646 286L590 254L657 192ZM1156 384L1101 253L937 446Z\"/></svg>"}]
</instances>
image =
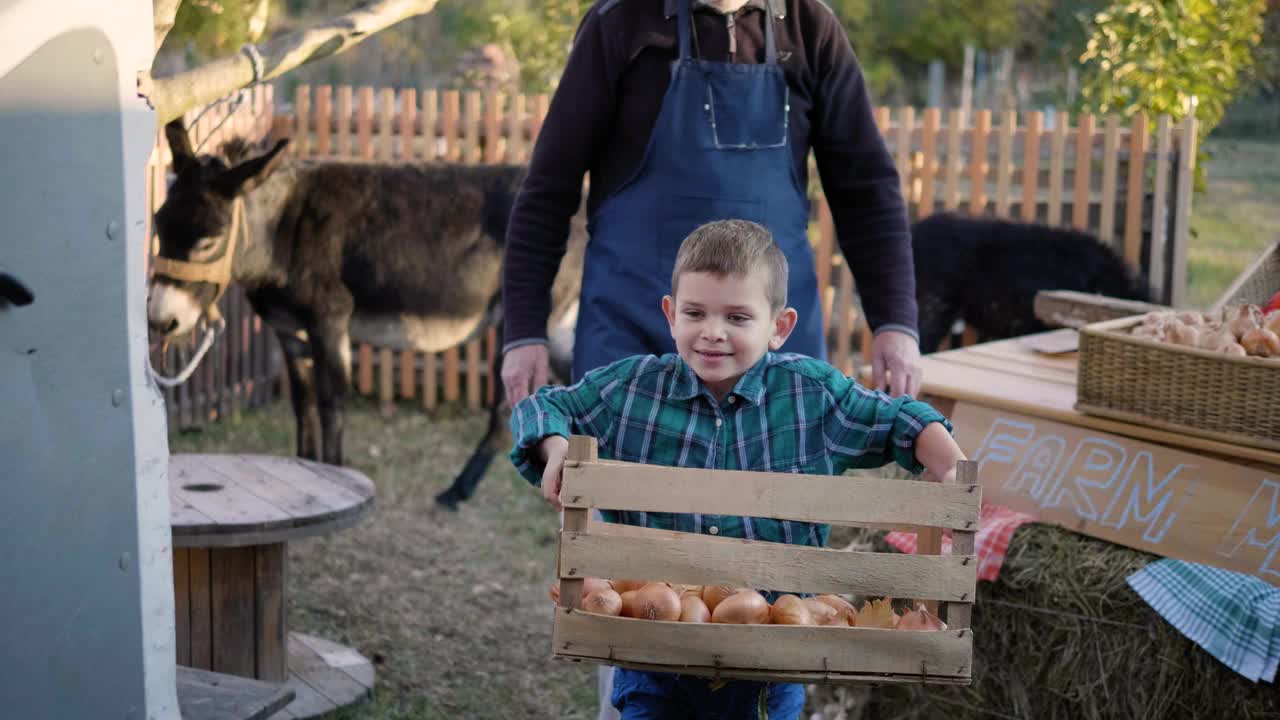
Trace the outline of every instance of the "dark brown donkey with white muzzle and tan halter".
<instances>
[{"instance_id":1,"label":"dark brown donkey with white muzzle and tan halter","mask_svg":"<svg viewBox=\"0 0 1280 720\"><path fill-rule=\"evenodd\" d=\"M284 352L301 457L343 464L351 343L442 351L499 327L507 219L526 168L366 164L289 158L280 140L228 161L197 156L180 120L165 126L175 179L156 211L159 258L147 297L154 336L189 333L230 282ZM246 233L237 233L243 224ZM241 242L238 237L246 240ZM553 288L552 365L568 378L585 223L575 218ZM503 397L502 355L490 379ZM436 501L471 496L507 443L506 409Z\"/></svg>"}]
</instances>

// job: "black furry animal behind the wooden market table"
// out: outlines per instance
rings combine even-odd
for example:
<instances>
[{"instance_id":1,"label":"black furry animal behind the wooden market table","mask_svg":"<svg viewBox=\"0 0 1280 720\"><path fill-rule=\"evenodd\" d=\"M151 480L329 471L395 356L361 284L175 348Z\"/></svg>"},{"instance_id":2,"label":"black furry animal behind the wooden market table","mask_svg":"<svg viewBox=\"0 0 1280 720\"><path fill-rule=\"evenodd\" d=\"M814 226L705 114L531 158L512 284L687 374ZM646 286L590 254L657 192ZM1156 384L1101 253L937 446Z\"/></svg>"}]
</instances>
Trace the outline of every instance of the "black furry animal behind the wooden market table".
<instances>
[{"instance_id":1,"label":"black furry animal behind the wooden market table","mask_svg":"<svg viewBox=\"0 0 1280 720\"><path fill-rule=\"evenodd\" d=\"M1047 329L1034 314L1042 290L1149 300L1146 278L1096 237L1073 229L954 214L911 225L920 352L964 320L982 340Z\"/></svg>"}]
</instances>

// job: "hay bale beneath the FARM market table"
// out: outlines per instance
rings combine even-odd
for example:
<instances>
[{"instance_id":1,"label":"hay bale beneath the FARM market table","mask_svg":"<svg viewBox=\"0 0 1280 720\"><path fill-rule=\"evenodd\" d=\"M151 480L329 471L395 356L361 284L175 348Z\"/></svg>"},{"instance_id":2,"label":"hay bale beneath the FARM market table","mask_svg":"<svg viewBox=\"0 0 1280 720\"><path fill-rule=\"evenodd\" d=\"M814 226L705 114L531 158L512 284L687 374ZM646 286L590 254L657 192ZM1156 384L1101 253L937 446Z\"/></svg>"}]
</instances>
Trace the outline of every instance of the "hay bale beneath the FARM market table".
<instances>
[{"instance_id":1,"label":"hay bale beneath the FARM market table","mask_svg":"<svg viewBox=\"0 0 1280 720\"><path fill-rule=\"evenodd\" d=\"M877 550L888 550L883 534ZM1000 579L978 583L974 684L881 685L865 716L1280 717L1274 685L1228 669L1129 588L1125 578L1152 560L1055 527L1023 525ZM813 696L815 708L835 698L829 688L813 688Z\"/></svg>"}]
</instances>

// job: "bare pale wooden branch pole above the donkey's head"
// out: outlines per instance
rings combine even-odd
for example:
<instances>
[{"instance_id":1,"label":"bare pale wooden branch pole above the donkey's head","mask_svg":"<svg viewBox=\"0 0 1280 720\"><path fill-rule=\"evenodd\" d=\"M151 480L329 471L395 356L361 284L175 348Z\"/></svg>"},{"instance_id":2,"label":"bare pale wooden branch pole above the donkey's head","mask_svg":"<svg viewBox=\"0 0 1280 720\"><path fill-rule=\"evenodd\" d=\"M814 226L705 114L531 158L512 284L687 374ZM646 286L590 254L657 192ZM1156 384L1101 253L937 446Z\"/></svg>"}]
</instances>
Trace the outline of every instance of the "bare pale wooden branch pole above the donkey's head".
<instances>
[{"instance_id":1,"label":"bare pale wooden branch pole above the donkey's head","mask_svg":"<svg viewBox=\"0 0 1280 720\"><path fill-rule=\"evenodd\" d=\"M166 0L156 0L157 5ZM268 81L298 65L337 55L406 18L430 13L436 0L378 0L315 27L276 37L259 47ZM159 124L192 108L207 105L253 82L253 64L244 53L170 77L155 78L150 100Z\"/></svg>"}]
</instances>

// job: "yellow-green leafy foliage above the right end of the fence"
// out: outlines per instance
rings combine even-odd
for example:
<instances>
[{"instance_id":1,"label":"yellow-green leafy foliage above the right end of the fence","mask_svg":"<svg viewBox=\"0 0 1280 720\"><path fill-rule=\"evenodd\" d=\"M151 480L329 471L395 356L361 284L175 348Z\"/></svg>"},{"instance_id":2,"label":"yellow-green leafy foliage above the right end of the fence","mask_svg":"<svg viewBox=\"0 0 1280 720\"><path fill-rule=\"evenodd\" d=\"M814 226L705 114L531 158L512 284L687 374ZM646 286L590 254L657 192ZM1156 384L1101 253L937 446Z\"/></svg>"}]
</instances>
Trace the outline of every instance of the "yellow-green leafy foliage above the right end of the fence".
<instances>
[{"instance_id":1,"label":"yellow-green leafy foliage above the right end of the fence","mask_svg":"<svg viewBox=\"0 0 1280 720\"><path fill-rule=\"evenodd\" d=\"M1100 113L1183 118L1194 97L1203 138L1253 67L1265 0L1117 0L1094 17L1080 60Z\"/></svg>"}]
</instances>

